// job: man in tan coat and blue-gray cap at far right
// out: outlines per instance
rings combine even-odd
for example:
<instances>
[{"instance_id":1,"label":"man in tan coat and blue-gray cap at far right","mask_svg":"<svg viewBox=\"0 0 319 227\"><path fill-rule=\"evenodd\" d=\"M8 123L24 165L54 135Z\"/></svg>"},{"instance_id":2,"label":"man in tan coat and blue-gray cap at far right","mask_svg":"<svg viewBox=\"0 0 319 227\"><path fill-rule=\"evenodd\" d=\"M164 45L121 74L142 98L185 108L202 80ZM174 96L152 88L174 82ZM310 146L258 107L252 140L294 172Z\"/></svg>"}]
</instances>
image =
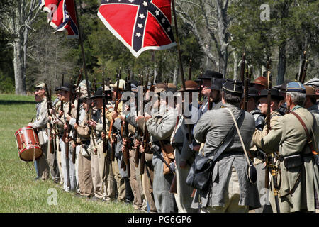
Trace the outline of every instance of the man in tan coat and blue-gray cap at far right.
<instances>
[{"instance_id":1,"label":"man in tan coat and blue-gray cap at far right","mask_svg":"<svg viewBox=\"0 0 319 227\"><path fill-rule=\"evenodd\" d=\"M279 150L279 165L281 170L279 184L280 212L315 211L315 192L319 189L318 165L314 155L318 150L316 143L312 143L314 150L308 145L306 130L297 114L306 126L311 139L317 139L319 128L313 115L302 106L306 100L306 89L299 82L291 82L286 87L286 104L289 114L281 116L268 135L262 138L260 147L266 153ZM293 156L294 155L294 156ZM293 167L294 165L294 167ZM272 209L274 206L272 191L269 199Z\"/></svg>"}]
</instances>

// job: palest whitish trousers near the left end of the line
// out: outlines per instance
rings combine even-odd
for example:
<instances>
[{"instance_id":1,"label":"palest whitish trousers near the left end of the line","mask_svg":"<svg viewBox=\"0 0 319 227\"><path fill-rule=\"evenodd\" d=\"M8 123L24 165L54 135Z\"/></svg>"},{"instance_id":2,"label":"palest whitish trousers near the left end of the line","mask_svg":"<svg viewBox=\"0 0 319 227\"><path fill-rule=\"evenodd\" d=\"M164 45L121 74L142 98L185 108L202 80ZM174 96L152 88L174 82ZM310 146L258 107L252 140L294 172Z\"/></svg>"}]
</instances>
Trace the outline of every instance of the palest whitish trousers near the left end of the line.
<instances>
[{"instance_id":1,"label":"palest whitish trousers near the left end of the line","mask_svg":"<svg viewBox=\"0 0 319 227\"><path fill-rule=\"evenodd\" d=\"M62 164L62 172L63 172L63 190L65 191L73 191L77 189L77 178L75 176L75 167L72 162L72 153L69 149L69 158L65 157L65 142L60 138L60 148L61 148L61 164ZM75 151L74 151L75 152Z\"/></svg>"}]
</instances>

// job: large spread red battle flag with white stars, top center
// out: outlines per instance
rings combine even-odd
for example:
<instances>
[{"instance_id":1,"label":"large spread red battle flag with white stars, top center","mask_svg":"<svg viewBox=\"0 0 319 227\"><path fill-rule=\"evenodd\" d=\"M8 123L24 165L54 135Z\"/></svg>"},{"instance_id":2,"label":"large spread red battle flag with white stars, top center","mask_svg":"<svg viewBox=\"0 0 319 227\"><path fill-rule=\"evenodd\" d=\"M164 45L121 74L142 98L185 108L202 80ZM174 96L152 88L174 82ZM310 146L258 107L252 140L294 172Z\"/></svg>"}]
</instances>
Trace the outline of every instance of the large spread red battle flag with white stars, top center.
<instances>
[{"instance_id":1,"label":"large spread red battle flag with white stars, top center","mask_svg":"<svg viewBox=\"0 0 319 227\"><path fill-rule=\"evenodd\" d=\"M102 0L98 16L135 57L176 45L171 0Z\"/></svg>"}]
</instances>

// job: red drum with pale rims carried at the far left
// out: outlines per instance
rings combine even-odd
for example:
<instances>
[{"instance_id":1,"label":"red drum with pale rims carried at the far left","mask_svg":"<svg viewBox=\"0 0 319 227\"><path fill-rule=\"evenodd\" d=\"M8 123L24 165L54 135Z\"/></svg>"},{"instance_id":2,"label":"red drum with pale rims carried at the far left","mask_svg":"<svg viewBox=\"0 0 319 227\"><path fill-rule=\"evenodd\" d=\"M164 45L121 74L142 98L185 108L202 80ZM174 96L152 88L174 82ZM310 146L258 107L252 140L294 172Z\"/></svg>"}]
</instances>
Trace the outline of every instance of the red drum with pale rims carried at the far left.
<instances>
[{"instance_id":1,"label":"red drum with pale rims carried at the far left","mask_svg":"<svg viewBox=\"0 0 319 227\"><path fill-rule=\"evenodd\" d=\"M21 160L33 162L41 157L43 151L40 148L38 133L32 127L20 128L14 135Z\"/></svg>"}]
</instances>

